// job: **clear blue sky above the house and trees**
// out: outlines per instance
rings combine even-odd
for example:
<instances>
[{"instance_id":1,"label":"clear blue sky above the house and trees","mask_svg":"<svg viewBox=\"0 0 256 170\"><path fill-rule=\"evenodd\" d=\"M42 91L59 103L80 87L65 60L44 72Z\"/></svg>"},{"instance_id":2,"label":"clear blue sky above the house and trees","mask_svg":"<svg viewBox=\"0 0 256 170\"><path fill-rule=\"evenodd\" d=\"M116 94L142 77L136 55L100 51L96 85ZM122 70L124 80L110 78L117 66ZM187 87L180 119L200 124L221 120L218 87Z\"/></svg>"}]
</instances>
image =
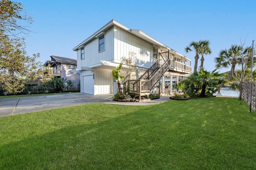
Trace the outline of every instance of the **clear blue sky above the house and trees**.
<instances>
[{"instance_id":1,"label":"clear blue sky above the house and trees","mask_svg":"<svg viewBox=\"0 0 256 170\"><path fill-rule=\"evenodd\" d=\"M140 29L154 39L192 59L184 48L191 41L210 41L211 55L204 67L214 70L214 58L232 44L252 45L256 39L256 0L21 0L34 19L26 37L28 55L40 53L76 58L72 48L112 19L130 29ZM26 25L27 26L27 25ZM198 66L200 65L200 61ZM230 69L222 69L227 71Z\"/></svg>"}]
</instances>

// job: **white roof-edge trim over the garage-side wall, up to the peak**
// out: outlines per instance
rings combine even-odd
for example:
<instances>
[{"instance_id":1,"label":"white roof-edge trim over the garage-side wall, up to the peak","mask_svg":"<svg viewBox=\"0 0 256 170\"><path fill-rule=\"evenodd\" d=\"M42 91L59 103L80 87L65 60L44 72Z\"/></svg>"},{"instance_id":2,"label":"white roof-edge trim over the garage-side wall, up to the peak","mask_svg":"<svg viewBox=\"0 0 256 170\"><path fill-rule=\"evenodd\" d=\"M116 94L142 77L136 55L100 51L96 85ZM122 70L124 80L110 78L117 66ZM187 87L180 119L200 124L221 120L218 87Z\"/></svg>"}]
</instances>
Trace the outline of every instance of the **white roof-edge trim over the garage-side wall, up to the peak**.
<instances>
[{"instance_id":1,"label":"white roof-edge trim over the garage-side wall, up to the peak","mask_svg":"<svg viewBox=\"0 0 256 170\"><path fill-rule=\"evenodd\" d=\"M84 46L86 43L88 43L89 41L91 41L92 39L94 39L97 35L104 33L104 31L106 29L108 29L109 27L111 27L112 25L117 25L118 27L121 27L122 29L125 29L127 31L130 31L130 28L122 25L121 23L115 21L115 20L111 20L109 23L107 23L106 25L104 25L102 28L100 28L98 31L96 31L94 34L92 34L90 37L88 37L86 40L82 41L82 43L78 44L76 47L73 48L73 51L77 51L79 49L79 47Z\"/></svg>"}]
</instances>

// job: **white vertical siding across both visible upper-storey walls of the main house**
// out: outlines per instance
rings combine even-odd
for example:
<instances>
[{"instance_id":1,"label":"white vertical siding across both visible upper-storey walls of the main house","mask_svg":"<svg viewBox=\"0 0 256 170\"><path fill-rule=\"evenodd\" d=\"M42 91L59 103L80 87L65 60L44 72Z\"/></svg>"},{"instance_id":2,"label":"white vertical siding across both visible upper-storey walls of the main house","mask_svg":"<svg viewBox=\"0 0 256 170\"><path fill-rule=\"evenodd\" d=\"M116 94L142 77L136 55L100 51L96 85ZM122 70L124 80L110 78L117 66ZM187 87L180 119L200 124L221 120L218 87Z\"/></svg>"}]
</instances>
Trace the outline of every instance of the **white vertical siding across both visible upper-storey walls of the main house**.
<instances>
[{"instance_id":1,"label":"white vertical siding across both visible upper-storey walls of the main house","mask_svg":"<svg viewBox=\"0 0 256 170\"><path fill-rule=\"evenodd\" d=\"M138 66L150 67L154 61L151 43L129 33L114 25L105 31L105 50L98 52L98 38L93 39L84 46L85 59L81 60L81 50L77 51L77 66L91 67L100 64L100 61L121 61L121 57L128 57L129 52L136 53Z\"/></svg>"}]
</instances>

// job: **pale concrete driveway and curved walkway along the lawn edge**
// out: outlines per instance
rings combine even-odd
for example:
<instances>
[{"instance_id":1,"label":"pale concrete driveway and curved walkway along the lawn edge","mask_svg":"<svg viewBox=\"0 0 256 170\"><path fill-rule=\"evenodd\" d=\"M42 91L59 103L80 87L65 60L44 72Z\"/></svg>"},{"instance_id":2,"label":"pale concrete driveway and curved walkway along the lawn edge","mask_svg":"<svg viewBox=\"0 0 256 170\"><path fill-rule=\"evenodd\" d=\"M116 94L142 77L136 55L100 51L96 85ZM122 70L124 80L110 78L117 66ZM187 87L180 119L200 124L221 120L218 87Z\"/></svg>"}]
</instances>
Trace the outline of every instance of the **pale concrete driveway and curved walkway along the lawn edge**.
<instances>
[{"instance_id":1,"label":"pale concrete driveway and curved walkway along the lawn edge","mask_svg":"<svg viewBox=\"0 0 256 170\"><path fill-rule=\"evenodd\" d=\"M86 93L54 94L45 96L28 96L0 99L0 116L16 115L60 107L76 106L87 103L106 103L118 105L141 106L157 104L170 100L170 96L162 96L160 99L148 102L114 102L114 94L96 95Z\"/></svg>"}]
</instances>

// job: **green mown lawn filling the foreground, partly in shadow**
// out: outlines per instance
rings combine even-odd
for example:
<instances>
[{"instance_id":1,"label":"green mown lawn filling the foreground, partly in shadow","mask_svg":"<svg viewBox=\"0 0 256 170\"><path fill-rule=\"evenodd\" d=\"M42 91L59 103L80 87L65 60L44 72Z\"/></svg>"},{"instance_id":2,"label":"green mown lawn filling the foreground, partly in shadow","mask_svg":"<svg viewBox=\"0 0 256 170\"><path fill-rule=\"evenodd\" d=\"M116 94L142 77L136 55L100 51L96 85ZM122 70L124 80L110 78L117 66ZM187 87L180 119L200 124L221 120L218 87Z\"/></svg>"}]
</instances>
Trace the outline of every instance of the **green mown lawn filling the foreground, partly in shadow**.
<instances>
[{"instance_id":1,"label":"green mown lawn filling the foreground, partly in shadow","mask_svg":"<svg viewBox=\"0 0 256 170\"><path fill-rule=\"evenodd\" d=\"M85 104L0 125L0 169L256 169L256 115L236 98Z\"/></svg>"}]
</instances>

